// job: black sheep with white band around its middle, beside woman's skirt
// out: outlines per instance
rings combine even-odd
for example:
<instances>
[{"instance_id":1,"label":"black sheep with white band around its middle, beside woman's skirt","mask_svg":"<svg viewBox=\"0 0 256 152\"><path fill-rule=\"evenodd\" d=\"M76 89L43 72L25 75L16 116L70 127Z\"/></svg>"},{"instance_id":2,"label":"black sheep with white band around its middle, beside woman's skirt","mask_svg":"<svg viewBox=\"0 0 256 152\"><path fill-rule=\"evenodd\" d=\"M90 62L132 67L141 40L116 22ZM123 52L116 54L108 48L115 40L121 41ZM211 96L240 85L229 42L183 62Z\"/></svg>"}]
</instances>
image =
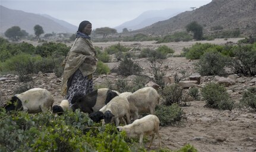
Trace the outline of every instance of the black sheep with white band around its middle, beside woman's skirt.
<instances>
[{"instance_id":1,"label":"black sheep with white band around its middle, beside woman's skirt","mask_svg":"<svg viewBox=\"0 0 256 152\"><path fill-rule=\"evenodd\" d=\"M99 88L86 95L77 93L71 100L71 109L80 109L89 114L97 112L115 96L118 96L118 93L108 88Z\"/></svg>"}]
</instances>

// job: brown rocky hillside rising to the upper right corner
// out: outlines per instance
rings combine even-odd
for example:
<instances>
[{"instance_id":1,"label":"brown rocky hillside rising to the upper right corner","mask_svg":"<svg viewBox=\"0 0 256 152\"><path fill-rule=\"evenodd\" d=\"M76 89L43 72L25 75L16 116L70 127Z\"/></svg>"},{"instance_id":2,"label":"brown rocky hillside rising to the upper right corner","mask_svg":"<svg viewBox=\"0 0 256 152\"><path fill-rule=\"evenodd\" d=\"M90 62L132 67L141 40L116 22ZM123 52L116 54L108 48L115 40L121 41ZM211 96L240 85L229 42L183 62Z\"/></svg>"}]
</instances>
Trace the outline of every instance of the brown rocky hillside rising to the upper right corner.
<instances>
[{"instance_id":1,"label":"brown rocky hillside rising to the upper right corner","mask_svg":"<svg viewBox=\"0 0 256 152\"><path fill-rule=\"evenodd\" d=\"M220 31L238 28L242 34L256 34L256 1L255 0L213 0L209 4L193 11L185 11L168 20L158 21L143 29L129 34L144 33L162 35L175 31L184 31L185 26L197 21L203 26L204 33L213 33L214 27Z\"/></svg>"}]
</instances>

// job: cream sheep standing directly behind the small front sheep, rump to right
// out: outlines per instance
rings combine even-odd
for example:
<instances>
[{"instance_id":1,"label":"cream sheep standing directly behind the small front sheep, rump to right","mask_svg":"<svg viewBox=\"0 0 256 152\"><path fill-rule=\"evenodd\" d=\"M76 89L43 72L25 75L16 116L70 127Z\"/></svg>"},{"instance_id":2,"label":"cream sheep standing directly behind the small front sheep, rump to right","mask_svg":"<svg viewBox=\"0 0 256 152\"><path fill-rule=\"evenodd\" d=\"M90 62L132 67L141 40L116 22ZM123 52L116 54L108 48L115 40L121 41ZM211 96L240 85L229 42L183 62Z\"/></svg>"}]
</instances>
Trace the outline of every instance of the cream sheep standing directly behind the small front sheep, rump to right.
<instances>
[{"instance_id":1,"label":"cream sheep standing directly behind the small front sheep, rump to right","mask_svg":"<svg viewBox=\"0 0 256 152\"><path fill-rule=\"evenodd\" d=\"M160 95L156 89L144 87L129 95L127 99L130 104L131 115L136 120L138 119L138 112L150 112L150 114L154 114L154 108L159 104Z\"/></svg>"}]
</instances>

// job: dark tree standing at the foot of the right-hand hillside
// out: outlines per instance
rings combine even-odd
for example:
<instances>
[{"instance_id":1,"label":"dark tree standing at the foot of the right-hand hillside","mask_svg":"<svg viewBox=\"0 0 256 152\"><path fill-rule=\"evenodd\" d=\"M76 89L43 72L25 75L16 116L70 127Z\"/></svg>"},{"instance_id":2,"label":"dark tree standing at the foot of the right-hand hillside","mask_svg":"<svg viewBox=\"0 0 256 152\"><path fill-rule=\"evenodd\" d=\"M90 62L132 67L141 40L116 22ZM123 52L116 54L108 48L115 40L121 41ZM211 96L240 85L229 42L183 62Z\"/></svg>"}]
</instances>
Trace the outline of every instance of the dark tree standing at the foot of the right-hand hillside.
<instances>
[{"instance_id":1,"label":"dark tree standing at the foot of the right-hand hillside","mask_svg":"<svg viewBox=\"0 0 256 152\"><path fill-rule=\"evenodd\" d=\"M192 31L194 33L195 40L202 40L203 39L203 27L198 24L196 21L192 21L186 26L186 30Z\"/></svg>"}]
</instances>

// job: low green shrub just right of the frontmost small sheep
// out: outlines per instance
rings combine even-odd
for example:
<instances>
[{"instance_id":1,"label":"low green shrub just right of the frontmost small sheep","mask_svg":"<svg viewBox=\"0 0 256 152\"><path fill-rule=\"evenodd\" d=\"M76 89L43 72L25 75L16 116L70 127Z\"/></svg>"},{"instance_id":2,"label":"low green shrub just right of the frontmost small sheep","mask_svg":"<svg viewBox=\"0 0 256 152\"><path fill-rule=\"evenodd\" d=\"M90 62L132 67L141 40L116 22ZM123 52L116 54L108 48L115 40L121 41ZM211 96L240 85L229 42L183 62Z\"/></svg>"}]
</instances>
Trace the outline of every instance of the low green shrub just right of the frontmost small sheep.
<instances>
[{"instance_id":1,"label":"low green shrub just right of the frontmost small sheep","mask_svg":"<svg viewBox=\"0 0 256 152\"><path fill-rule=\"evenodd\" d=\"M181 109L181 107L179 107L177 103L174 103L171 106L156 106L155 113L160 120L160 125L162 126L173 125L185 117L184 111Z\"/></svg>"}]
</instances>

